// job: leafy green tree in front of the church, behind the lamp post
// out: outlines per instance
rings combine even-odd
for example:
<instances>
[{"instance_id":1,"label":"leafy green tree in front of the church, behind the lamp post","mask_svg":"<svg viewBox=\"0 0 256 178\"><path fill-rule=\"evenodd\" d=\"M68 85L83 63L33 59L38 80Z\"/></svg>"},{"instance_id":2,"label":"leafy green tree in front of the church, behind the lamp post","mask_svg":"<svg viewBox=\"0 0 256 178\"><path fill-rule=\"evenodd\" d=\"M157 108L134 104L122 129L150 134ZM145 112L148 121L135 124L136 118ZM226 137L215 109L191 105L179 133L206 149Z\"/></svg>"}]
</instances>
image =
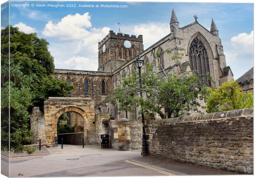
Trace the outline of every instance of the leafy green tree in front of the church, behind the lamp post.
<instances>
[{"instance_id":1,"label":"leafy green tree in front of the church, behind the lamp post","mask_svg":"<svg viewBox=\"0 0 256 178\"><path fill-rule=\"evenodd\" d=\"M176 54L176 56L180 56ZM146 63L142 73L140 88L138 73L133 70L131 76L123 78L121 87L117 87L111 102L119 102L119 110L131 110L134 101L141 106L140 113L153 116L158 113L161 118L177 117L184 111L200 112L199 100L206 96L206 86L199 80L196 71L183 70L181 76L175 74L156 74L153 63ZM197 73L196 73L197 74ZM140 98L140 91L143 97ZM204 106L201 106L204 108Z\"/></svg>"}]
</instances>

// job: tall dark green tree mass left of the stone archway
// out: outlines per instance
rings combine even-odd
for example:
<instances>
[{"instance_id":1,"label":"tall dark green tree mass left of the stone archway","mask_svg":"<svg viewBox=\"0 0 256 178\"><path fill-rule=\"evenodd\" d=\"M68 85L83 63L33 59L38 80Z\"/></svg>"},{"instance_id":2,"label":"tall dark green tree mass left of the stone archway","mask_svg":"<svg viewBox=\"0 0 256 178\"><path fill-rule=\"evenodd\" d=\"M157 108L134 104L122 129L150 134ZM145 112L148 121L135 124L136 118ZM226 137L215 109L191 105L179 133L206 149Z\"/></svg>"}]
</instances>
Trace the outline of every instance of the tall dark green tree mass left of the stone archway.
<instances>
[{"instance_id":1,"label":"tall dark green tree mass left of the stone archway","mask_svg":"<svg viewBox=\"0 0 256 178\"><path fill-rule=\"evenodd\" d=\"M65 97L73 88L53 77L54 60L48 44L36 33L26 34L16 27L1 30L1 150L9 150L10 136L10 151L32 153L33 149L23 146L32 139L29 112L35 106L43 110L43 101L49 96Z\"/></svg>"}]
</instances>

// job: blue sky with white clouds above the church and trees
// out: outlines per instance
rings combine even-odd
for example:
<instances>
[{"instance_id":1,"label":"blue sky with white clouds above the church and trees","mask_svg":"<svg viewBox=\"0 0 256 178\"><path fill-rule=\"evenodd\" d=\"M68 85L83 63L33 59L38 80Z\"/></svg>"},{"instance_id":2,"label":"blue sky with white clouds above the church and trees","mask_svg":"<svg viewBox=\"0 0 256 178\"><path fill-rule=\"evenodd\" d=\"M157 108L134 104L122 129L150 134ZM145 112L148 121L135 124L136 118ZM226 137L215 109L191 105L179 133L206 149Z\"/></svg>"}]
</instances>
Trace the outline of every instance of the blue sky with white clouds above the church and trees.
<instances>
[{"instance_id":1,"label":"blue sky with white clouds above the church and trees","mask_svg":"<svg viewBox=\"0 0 256 178\"><path fill-rule=\"evenodd\" d=\"M30 7L13 5L30 4ZM127 8L31 7L31 4L127 5ZM109 30L143 35L145 49L170 33L172 8L180 27L197 21L209 29L213 17L222 40L227 66L237 79L253 66L253 4L171 2L11 1L10 23L36 32L49 43L56 68L97 70L97 42ZM4 16L1 27L5 26Z\"/></svg>"}]
</instances>

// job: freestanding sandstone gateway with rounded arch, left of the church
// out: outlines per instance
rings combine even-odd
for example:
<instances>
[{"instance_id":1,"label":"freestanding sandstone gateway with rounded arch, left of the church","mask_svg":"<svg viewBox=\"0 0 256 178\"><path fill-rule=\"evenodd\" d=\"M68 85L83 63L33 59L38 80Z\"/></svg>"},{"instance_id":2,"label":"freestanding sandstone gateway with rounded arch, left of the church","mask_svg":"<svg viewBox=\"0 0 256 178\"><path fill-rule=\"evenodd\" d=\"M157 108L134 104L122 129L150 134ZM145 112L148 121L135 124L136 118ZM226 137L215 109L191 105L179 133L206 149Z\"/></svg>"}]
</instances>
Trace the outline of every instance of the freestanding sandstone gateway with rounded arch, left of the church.
<instances>
[{"instance_id":1,"label":"freestanding sandstone gateway with rounded arch, left of the church","mask_svg":"<svg viewBox=\"0 0 256 178\"><path fill-rule=\"evenodd\" d=\"M44 102L45 136L51 146L57 142L57 122L65 112L76 112L84 120L84 133L87 138L87 130L95 129L94 100L91 98L62 98L49 97Z\"/></svg>"}]
</instances>

